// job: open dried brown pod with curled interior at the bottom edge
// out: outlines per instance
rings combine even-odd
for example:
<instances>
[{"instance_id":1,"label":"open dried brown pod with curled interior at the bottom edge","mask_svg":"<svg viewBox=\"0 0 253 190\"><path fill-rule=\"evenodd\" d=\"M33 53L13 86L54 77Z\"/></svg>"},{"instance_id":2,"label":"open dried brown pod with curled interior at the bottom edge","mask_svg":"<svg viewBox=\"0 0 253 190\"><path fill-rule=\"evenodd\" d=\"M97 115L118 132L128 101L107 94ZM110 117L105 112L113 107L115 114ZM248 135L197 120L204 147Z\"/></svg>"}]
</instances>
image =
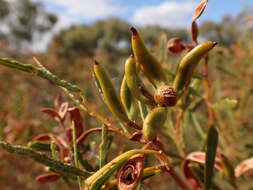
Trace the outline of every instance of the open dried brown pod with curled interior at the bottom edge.
<instances>
[{"instance_id":1,"label":"open dried brown pod with curled interior at the bottom edge","mask_svg":"<svg viewBox=\"0 0 253 190\"><path fill-rule=\"evenodd\" d=\"M144 155L138 154L121 166L117 176L119 190L135 190L144 168Z\"/></svg>"}]
</instances>

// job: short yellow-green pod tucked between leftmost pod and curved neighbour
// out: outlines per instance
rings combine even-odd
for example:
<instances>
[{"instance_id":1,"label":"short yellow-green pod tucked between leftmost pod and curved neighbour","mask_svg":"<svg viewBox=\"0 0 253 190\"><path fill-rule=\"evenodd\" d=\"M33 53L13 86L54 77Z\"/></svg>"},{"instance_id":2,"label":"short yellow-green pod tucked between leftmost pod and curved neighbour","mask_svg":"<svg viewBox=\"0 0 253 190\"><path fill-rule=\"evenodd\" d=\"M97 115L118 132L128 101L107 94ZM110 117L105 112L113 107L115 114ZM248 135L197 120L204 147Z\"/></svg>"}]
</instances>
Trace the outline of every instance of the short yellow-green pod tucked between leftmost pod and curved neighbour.
<instances>
[{"instance_id":1,"label":"short yellow-green pod tucked between leftmost pod and curved neighbour","mask_svg":"<svg viewBox=\"0 0 253 190\"><path fill-rule=\"evenodd\" d=\"M128 116L130 118L133 118L135 115L135 111L136 111L136 104L135 104L136 101L135 101L133 95L131 94L131 91L127 85L126 76L123 77L123 80L121 83L120 99L121 99L121 102L122 102L125 110L128 113Z\"/></svg>"}]
</instances>

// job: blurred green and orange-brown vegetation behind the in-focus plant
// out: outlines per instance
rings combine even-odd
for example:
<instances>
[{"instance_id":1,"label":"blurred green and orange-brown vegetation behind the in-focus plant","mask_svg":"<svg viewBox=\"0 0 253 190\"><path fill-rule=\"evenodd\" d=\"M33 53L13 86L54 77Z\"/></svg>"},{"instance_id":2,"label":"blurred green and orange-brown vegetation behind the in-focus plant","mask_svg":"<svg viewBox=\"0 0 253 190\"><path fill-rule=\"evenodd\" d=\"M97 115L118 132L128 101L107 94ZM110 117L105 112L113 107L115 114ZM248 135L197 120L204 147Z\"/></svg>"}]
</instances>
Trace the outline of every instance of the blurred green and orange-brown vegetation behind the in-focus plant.
<instances>
[{"instance_id":1,"label":"blurred green and orange-brown vegetation behind the in-focus plant","mask_svg":"<svg viewBox=\"0 0 253 190\"><path fill-rule=\"evenodd\" d=\"M131 54L130 24L118 18L108 18L89 25L72 25L54 34L45 51L34 52L34 43L51 33L57 21L57 15L47 12L41 3L31 0L0 0L0 56L30 64L34 64L32 56L36 56L60 78L81 86L90 102L101 113L107 114L108 110L94 88L92 61L96 57L105 65L119 89L124 61ZM242 12L233 17L225 16L218 23L204 21L199 25L201 39L219 43L219 47L210 56L213 101L225 97L239 101L238 107L229 112L217 108L222 121L220 130L223 132L223 144L234 147L225 150L234 164L253 156L252 23L250 15ZM163 36L166 39L180 37L184 42L191 43L189 31L184 28L146 26L139 29L148 46L157 55L161 50ZM165 65L174 72L181 57L181 54L172 55L167 52ZM0 68L0 81L0 139L14 144L26 144L39 133L57 130L57 123L42 113L41 109L53 107L54 98L62 93L60 89L47 81L4 67ZM85 129L96 127L94 119L85 114L83 117ZM204 120L201 117L201 107L197 117ZM196 151L198 137L191 141L196 134L191 131L191 126L187 127L186 139L191 142L188 152ZM90 146L94 146L94 143L96 145L96 138L91 138ZM90 158L93 159L92 156ZM41 165L31 160L0 150L0 189L65 188L60 182L50 185L35 182L35 176L43 170ZM252 181L252 175L245 178ZM154 185L157 183L160 189L173 187L163 179L166 178L162 176L150 181L150 189L156 189ZM253 189L253 183L242 184L242 187Z\"/></svg>"}]
</instances>

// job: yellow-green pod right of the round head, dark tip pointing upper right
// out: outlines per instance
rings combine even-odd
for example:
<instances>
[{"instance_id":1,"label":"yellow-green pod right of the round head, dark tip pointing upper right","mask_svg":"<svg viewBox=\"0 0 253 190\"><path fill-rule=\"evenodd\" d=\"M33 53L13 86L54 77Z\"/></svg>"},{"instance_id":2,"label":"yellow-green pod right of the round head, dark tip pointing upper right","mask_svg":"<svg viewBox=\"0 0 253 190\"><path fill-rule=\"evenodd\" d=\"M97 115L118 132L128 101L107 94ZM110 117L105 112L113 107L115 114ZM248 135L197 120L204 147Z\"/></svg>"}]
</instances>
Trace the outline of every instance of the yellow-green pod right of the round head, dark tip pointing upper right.
<instances>
[{"instance_id":1,"label":"yellow-green pod right of the round head, dark tip pointing upper right","mask_svg":"<svg viewBox=\"0 0 253 190\"><path fill-rule=\"evenodd\" d=\"M187 53L179 63L176 78L173 87L179 92L186 87L191 76L202 57L204 57L217 43L207 41L192 49Z\"/></svg>"}]
</instances>

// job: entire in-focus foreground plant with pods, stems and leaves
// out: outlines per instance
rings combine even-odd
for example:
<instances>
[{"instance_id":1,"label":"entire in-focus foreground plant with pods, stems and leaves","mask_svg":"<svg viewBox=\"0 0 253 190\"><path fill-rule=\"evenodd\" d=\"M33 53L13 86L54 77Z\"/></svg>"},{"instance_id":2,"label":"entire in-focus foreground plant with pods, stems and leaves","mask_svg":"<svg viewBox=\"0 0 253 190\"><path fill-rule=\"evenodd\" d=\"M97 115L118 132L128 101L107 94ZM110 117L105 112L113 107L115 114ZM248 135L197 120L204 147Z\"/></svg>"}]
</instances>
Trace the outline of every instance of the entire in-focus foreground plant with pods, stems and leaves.
<instances>
[{"instance_id":1,"label":"entire in-focus foreground plant with pods, stems and leaves","mask_svg":"<svg viewBox=\"0 0 253 190\"><path fill-rule=\"evenodd\" d=\"M224 172L224 180L238 189L236 177L247 171L249 164L243 163L243 167L238 166L234 170L218 146L219 125L208 79L208 53L217 43L206 41L199 44L196 23L206 5L207 0L202 0L195 10L191 24L193 44L185 44L180 38L168 41L167 51L175 54L184 52L175 73L166 69L164 56L158 59L150 53L140 32L134 27L130 29L133 55L125 62L120 95L106 69L94 60L94 80L105 105L117 119L116 124L94 109L80 87L59 79L36 58L36 65L1 58L0 64L3 66L31 73L59 86L76 107L69 107L68 102L58 97L54 109L43 110L62 127L61 135L41 134L27 146L0 141L0 147L48 166L48 172L36 178L38 182L53 182L61 178L70 187L76 182L79 189L83 190L140 189L147 178L162 172L167 173L179 189L221 189L213 178L215 170ZM204 73L197 75L195 71L202 59ZM204 95L199 91L201 83L204 84ZM199 150L189 153L182 126L184 115L188 110L194 113L202 102L206 104L208 122L200 127L194 114L192 119L203 145ZM236 101L231 99L225 99L223 103L230 107L236 105ZM101 127L84 130L82 111L96 118ZM70 123L66 122L68 117ZM101 144L97 155L99 164L94 166L88 163L83 154L87 136L95 132L101 133ZM107 161L113 140L110 134L132 141L136 148L118 152L115 158ZM170 142L176 145L177 150L168 149L166 138L172 139ZM150 156L153 156L153 161L147 161Z\"/></svg>"}]
</instances>

